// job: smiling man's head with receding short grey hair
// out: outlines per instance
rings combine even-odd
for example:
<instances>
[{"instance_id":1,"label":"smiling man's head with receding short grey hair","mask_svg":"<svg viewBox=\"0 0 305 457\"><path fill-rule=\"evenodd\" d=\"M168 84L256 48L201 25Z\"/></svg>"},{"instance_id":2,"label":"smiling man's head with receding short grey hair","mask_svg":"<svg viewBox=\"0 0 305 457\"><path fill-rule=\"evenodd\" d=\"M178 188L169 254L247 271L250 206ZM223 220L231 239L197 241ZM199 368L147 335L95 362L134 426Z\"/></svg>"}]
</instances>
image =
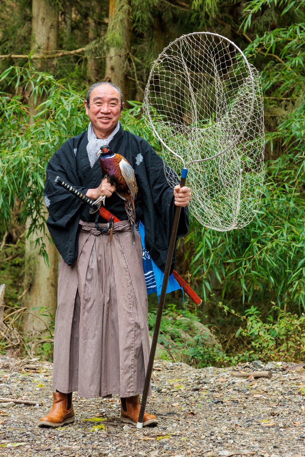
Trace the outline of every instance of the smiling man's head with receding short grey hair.
<instances>
[{"instance_id":1,"label":"smiling man's head with receding short grey hair","mask_svg":"<svg viewBox=\"0 0 305 457\"><path fill-rule=\"evenodd\" d=\"M97 138L108 138L122 116L118 90L109 84L96 86L91 92L89 107L86 100L84 104Z\"/></svg>"}]
</instances>

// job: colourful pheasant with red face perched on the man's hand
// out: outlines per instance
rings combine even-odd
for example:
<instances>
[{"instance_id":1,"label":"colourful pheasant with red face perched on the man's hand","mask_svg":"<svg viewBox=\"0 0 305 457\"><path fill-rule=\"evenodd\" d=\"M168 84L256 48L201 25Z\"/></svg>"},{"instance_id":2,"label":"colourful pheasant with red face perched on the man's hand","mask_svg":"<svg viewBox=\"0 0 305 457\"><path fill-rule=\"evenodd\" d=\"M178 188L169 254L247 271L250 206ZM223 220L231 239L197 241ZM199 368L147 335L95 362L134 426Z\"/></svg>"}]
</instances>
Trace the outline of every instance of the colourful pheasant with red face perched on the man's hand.
<instances>
[{"instance_id":1,"label":"colourful pheasant with red face perched on the man's hand","mask_svg":"<svg viewBox=\"0 0 305 457\"><path fill-rule=\"evenodd\" d=\"M114 154L109 146L102 146L97 155L101 155L100 162L104 177L112 186L116 186L116 193L124 200L127 217L131 224L131 239L134 244L136 233L134 201L138 193L134 169L123 155ZM97 209L102 202L105 205L105 199L106 196L102 195L95 201Z\"/></svg>"}]
</instances>

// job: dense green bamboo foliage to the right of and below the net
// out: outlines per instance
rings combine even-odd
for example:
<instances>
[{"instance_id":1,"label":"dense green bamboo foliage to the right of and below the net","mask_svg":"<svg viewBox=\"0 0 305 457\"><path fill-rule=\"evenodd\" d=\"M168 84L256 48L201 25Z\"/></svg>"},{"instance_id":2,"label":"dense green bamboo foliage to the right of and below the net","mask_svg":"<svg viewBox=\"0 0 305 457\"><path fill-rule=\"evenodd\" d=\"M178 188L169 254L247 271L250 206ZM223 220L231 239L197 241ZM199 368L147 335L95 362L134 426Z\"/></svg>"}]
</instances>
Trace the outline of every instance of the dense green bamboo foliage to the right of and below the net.
<instances>
[{"instance_id":1,"label":"dense green bamboo foliage to the right of and below the net","mask_svg":"<svg viewBox=\"0 0 305 457\"><path fill-rule=\"evenodd\" d=\"M224 299L232 299L237 288L242 303L268 308L274 300L300 312L305 309L305 23L280 28L274 23L284 24L288 14L303 19L304 2L251 0L245 31L258 30L272 8L273 30L257 34L245 53L262 69L267 152L272 158L276 146L282 154L266 163L260 211L246 228L218 233L193 221L187 240L193 249L190 272L203 284L205 300L216 277Z\"/></svg>"}]
</instances>

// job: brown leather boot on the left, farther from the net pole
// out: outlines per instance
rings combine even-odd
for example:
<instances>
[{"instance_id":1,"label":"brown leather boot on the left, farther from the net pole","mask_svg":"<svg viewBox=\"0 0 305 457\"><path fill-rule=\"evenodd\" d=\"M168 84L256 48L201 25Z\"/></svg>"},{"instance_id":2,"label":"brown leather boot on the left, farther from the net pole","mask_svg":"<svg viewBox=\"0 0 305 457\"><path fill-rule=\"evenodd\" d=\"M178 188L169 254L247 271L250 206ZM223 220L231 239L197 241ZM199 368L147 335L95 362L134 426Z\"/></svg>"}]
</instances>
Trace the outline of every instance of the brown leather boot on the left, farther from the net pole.
<instances>
[{"instance_id":1,"label":"brown leather boot on the left, farther from the net pole","mask_svg":"<svg viewBox=\"0 0 305 457\"><path fill-rule=\"evenodd\" d=\"M70 407L69 409L67 409L68 406ZM40 419L39 427L43 427L44 425L60 427L74 421L72 393L53 392L53 407L49 414Z\"/></svg>"}]
</instances>

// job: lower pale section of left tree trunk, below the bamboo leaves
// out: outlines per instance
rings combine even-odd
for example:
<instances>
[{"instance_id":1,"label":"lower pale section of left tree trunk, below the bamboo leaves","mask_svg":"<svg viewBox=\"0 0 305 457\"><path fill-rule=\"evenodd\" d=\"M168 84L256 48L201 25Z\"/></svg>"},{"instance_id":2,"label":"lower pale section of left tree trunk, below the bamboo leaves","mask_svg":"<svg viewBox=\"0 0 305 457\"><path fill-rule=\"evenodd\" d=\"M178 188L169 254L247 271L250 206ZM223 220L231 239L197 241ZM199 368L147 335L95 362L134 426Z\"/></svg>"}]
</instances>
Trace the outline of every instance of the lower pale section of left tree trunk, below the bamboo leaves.
<instances>
[{"instance_id":1,"label":"lower pale section of left tree trunk, below the bamboo leaves","mask_svg":"<svg viewBox=\"0 0 305 457\"><path fill-rule=\"evenodd\" d=\"M44 204L43 207L47 214ZM30 221L28 226L29 223ZM29 291L24 297L24 306L31 314L24 314L23 330L29 335L46 336L45 332L52 326L57 308L60 255L54 244L48 240L47 234L47 228L45 235L42 232L31 234L26 243L25 284L28 284ZM42 237L46 245L49 267L39 254L39 245L35 246L38 237Z\"/></svg>"}]
</instances>

